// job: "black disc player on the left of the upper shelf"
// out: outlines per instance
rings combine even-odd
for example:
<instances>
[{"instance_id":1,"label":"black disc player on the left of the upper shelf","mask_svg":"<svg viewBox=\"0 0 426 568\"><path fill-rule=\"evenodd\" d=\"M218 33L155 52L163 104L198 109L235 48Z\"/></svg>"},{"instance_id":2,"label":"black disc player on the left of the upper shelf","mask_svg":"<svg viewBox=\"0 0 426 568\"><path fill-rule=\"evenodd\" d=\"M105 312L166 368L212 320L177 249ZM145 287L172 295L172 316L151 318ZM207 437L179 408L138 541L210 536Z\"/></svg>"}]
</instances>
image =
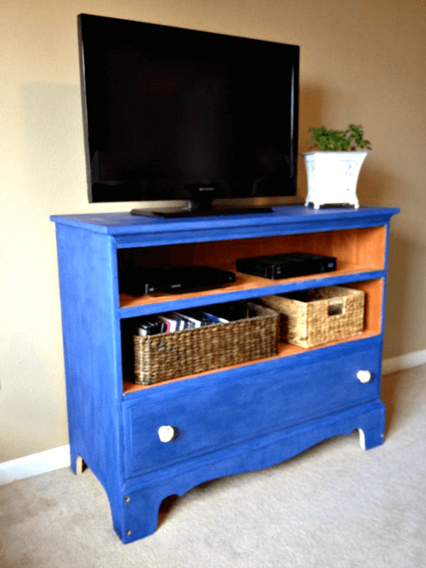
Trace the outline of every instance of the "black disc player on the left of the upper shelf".
<instances>
[{"instance_id":1,"label":"black disc player on the left of the upper shelf","mask_svg":"<svg viewBox=\"0 0 426 568\"><path fill-rule=\"evenodd\" d=\"M209 266L139 268L126 274L121 292L131 295L193 292L235 282L235 274Z\"/></svg>"}]
</instances>

